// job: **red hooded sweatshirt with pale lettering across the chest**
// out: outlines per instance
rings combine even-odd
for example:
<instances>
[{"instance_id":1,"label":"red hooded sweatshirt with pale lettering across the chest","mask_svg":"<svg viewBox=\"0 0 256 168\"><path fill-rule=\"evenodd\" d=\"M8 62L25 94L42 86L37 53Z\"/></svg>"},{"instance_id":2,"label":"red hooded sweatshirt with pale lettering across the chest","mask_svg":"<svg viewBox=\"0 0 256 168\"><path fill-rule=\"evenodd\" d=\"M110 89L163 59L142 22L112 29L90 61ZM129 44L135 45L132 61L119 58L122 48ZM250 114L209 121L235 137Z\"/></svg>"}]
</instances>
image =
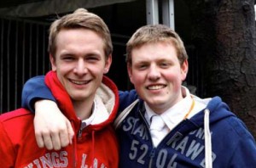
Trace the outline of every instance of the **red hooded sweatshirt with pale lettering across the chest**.
<instances>
[{"instance_id":1,"label":"red hooded sweatshirt with pale lettering across the chest","mask_svg":"<svg viewBox=\"0 0 256 168\"><path fill-rule=\"evenodd\" d=\"M106 76L102 83L104 95L113 95L112 111L108 120L100 124L90 125L82 129L81 120L75 115L73 104L55 72L50 71L45 76L45 82L56 98L64 115L71 120L73 129L78 135L73 138L73 144L59 151L38 148L35 139L34 115L27 109L16 109L0 115L0 166L1 167L118 167L118 142L112 122L119 106L118 89ZM107 87L106 87L107 86ZM101 90L101 87L98 91ZM97 92L98 92L97 91ZM113 94L104 94L104 92ZM102 96L103 95L103 96ZM106 96L107 97L107 96Z\"/></svg>"}]
</instances>

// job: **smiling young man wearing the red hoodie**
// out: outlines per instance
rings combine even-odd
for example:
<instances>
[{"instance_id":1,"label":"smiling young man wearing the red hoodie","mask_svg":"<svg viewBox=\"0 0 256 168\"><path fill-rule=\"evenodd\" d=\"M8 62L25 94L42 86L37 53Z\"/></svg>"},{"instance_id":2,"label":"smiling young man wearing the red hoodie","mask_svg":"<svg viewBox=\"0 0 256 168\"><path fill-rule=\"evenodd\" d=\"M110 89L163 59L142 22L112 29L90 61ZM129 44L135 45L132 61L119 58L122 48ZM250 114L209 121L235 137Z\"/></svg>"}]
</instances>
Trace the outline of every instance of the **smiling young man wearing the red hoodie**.
<instances>
[{"instance_id":1,"label":"smiling young man wearing the red hoodie","mask_svg":"<svg viewBox=\"0 0 256 168\"><path fill-rule=\"evenodd\" d=\"M112 123L119 95L113 81L104 76L112 63L112 51L108 26L84 8L53 22L49 29L52 70L44 82L66 117L67 132L76 136L66 142L62 141L65 137L45 136L37 144L32 112L5 113L0 116L1 167L118 167L119 144ZM52 147L38 147L51 138L55 138ZM67 142L67 147L52 150Z\"/></svg>"}]
</instances>

